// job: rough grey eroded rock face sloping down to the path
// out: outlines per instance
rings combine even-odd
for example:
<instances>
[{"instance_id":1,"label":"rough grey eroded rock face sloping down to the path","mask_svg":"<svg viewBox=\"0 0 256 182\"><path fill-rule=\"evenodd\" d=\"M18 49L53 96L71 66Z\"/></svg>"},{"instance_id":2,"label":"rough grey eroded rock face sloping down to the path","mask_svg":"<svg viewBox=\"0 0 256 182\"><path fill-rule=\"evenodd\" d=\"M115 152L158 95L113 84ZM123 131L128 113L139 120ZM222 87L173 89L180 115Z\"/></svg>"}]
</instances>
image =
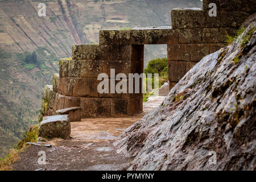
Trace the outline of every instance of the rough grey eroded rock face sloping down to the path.
<instances>
[{"instance_id":1,"label":"rough grey eroded rock face sloping down to the path","mask_svg":"<svg viewBox=\"0 0 256 182\"><path fill-rule=\"evenodd\" d=\"M255 170L255 27L204 57L121 134L118 152L135 157L129 169Z\"/></svg>"}]
</instances>

